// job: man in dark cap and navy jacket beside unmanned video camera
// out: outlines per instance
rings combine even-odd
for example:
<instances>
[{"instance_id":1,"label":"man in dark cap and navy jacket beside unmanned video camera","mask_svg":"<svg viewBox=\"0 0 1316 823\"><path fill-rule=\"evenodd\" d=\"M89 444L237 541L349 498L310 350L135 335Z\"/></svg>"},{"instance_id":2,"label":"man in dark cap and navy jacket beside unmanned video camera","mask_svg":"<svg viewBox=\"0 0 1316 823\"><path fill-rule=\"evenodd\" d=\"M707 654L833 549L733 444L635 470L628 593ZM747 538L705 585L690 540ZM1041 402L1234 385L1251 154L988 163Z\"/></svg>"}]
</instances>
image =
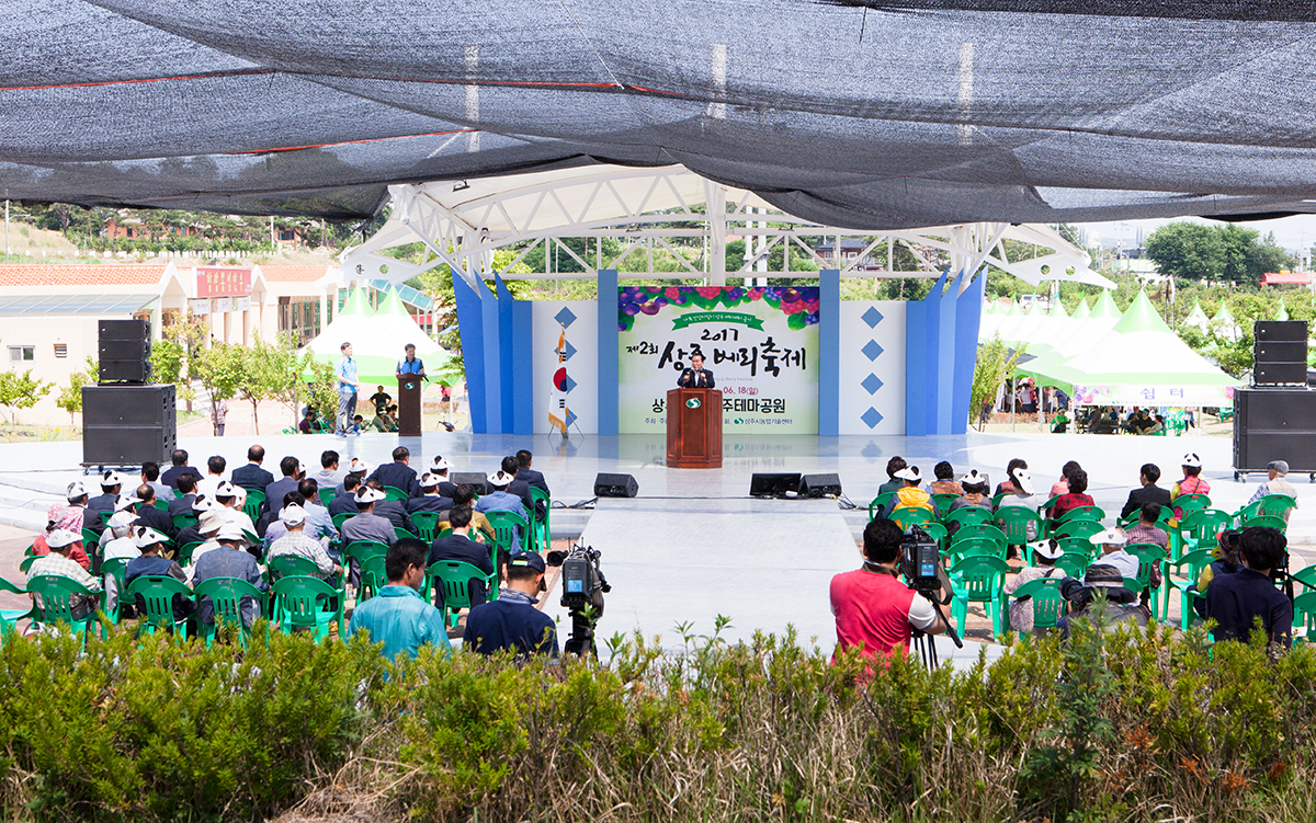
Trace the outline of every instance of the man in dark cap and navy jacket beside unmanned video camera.
<instances>
[{"instance_id":1,"label":"man in dark cap and navy jacket beside unmanned video camera","mask_svg":"<svg viewBox=\"0 0 1316 823\"><path fill-rule=\"evenodd\" d=\"M497 600L471 609L466 617L462 646L480 655L513 649L519 656L549 655L558 659L558 634L553 618L534 605L545 592L544 557L522 552L507 565L507 585Z\"/></svg>"}]
</instances>

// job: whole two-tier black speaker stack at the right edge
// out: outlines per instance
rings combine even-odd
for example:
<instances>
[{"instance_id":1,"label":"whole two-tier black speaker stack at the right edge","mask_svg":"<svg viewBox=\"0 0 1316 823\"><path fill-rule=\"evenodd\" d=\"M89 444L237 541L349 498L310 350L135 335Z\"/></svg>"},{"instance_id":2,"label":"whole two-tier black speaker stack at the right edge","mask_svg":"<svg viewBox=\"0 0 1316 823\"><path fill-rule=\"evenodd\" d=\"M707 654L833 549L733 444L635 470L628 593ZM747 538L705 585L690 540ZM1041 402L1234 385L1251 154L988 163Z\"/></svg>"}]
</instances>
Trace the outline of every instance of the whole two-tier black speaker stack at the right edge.
<instances>
[{"instance_id":1,"label":"whole two-tier black speaker stack at the right edge","mask_svg":"<svg viewBox=\"0 0 1316 823\"><path fill-rule=\"evenodd\" d=\"M1316 472L1316 392L1307 388L1305 321L1258 321L1253 385L1234 392L1234 480L1286 460Z\"/></svg>"}]
</instances>

